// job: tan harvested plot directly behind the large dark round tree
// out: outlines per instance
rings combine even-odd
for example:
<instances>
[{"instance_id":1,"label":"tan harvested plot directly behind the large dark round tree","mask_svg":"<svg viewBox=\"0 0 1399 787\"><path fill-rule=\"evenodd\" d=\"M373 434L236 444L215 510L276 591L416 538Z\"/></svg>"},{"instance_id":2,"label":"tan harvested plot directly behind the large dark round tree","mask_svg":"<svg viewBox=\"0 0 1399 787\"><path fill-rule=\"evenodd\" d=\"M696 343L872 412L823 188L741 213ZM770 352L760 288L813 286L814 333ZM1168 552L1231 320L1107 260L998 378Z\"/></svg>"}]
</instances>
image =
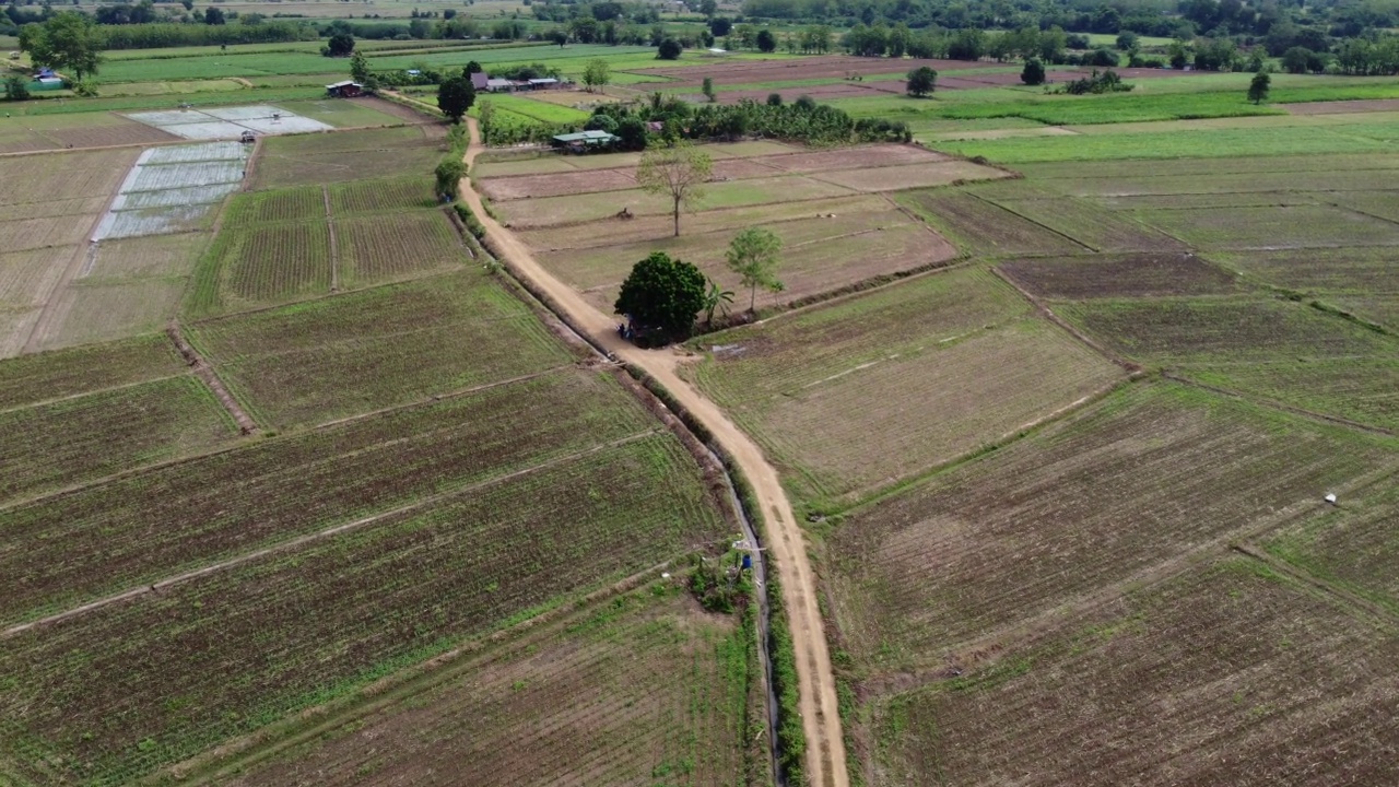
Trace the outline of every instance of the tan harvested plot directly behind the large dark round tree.
<instances>
[{"instance_id":1,"label":"tan harvested plot directly behind the large dark round tree","mask_svg":"<svg viewBox=\"0 0 1399 787\"><path fill-rule=\"evenodd\" d=\"M828 214L769 224L783 242L781 293L758 294L758 305L772 307L820 293L944 263L957 251L942 237L898 210ZM834 216L834 217L830 217ZM583 290L599 308L610 311L631 266L653 251L697 265L729 290L741 290L725 263L725 249L736 230L686 234L635 244L540 253L544 266ZM747 295L747 293L743 293ZM747 298L736 298L747 304Z\"/></svg>"}]
</instances>

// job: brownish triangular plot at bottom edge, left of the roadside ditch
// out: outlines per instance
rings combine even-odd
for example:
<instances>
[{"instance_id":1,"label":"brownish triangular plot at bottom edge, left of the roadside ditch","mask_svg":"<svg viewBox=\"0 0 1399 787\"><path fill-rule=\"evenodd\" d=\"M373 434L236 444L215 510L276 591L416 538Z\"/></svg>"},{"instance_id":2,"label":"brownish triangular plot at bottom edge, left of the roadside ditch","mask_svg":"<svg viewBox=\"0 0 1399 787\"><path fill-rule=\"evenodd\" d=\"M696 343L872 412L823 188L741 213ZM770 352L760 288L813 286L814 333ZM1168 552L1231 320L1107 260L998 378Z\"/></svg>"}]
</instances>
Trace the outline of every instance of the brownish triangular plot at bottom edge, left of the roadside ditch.
<instances>
[{"instance_id":1,"label":"brownish triangular plot at bottom edge, left of the roadside ditch","mask_svg":"<svg viewBox=\"0 0 1399 787\"><path fill-rule=\"evenodd\" d=\"M751 632L652 585L450 674L228 781L744 784Z\"/></svg>"}]
</instances>

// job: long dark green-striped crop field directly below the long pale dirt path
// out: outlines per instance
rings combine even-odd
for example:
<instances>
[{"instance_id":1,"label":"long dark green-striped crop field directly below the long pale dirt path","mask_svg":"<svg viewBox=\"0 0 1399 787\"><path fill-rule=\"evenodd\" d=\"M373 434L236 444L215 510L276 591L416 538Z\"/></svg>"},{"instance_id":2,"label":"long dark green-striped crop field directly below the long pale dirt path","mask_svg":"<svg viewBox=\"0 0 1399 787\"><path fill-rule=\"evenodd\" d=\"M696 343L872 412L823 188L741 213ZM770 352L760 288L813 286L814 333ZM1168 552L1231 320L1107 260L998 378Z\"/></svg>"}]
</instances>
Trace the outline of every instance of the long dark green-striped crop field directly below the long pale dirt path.
<instances>
[{"instance_id":1,"label":"long dark green-striped crop field directly below the long pale dirt path","mask_svg":"<svg viewBox=\"0 0 1399 787\"><path fill-rule=\"evenodd\" d=\"M7 748L127 783L726 535L658 436L0 643Z\"/></svg>"}]
</instances>

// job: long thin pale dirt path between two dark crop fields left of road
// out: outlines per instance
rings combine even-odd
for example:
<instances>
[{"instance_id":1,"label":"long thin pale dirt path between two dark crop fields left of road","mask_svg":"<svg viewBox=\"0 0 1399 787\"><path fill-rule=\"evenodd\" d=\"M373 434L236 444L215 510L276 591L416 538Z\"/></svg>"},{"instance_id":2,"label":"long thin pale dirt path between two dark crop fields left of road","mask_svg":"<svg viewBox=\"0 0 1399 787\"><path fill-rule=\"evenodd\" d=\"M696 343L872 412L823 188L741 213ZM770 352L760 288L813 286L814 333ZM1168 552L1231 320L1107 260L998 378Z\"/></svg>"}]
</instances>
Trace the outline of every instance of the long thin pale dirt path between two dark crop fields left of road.
<instances>
[{"instance_id":1,"label":"long thin pale dirt path between two dark crop fields left of road","mask_svg":"<svg viewBox=\"0 0 1399 787\"><path fill-rule=\"evenodd\" d=\"M360 520L354 520L351 522L343 522L343 524L336 525L333 528L326 528L326 529L316 531L316 532L312 532L312 534L301 535L301 536L292 538L290 541L284 541L284 542L278 542L278 543L274 543L274 545L270 545L270 546L264 546L262 549L256 549L253 552L245 552L243 555L239 555L236 557L229 557L227 560L220 560L218 563L210 563L208 566L201 566L201 567L190 570L190 571L175 574L173 577L166 577L164 580L157 580L157 581L154 581L154 583L151 583L150 585L145 585L145 587L132 588L129 591L123 591L123 592L113 594L113 595L109 595L109 597L105 597L105 598L99 598L97 601L91 601L91 602L84 604L81 606L74 606L71 609L66 609L66 611L57 612L55 615L48 615L48 616L39 618L36 620L29 620L27 623L18 623L18 625L10 626L8 629L4 629L3 632L0 632L0 640L7 640L7 639L14 637L17 634L22 634L24 632L28 632L29 629L36 629L36 627L41 627L41 626L48 626L50 623L59 623L62 620L67 620L69 618L76 618L78 615L84 615L87 612L92 612L95 609L101 609L104 606L109 606L112 604L119 604L122 601L137 598L137 597L148 594L148 592L159 592L164 588L173 587L173 585L178 585L178 584L183 584L183 583L187 583L190 580L197 580L199 577L204 577L204 576L208 576L208 574L215 574L218 571L225 571L228 569L234 569L236 566L242 566L243 563L249 563L249 562L257 560L260 557L266 557L269 555L277 555L280 552L287 552L290 549L297 549L299 546L305 546L308 543L315 543L318 541L323 541L323 539L340 535L340 534L357 531L357 529L361 529L361 528L364 528L367 525L372 525L372 524L375 524L375 522L378 522L381 520L385 520L385 518L389 518L389 517L397 517L400 514L409 514L409 513L416 511L418 508L424 508L427 506L434 506L436 503L442 503L443 500L449 500L452 497L460 497L463 494L469 494L471 492L477 492L477 490L485 489L485 487L497 485L497 483L513 480L516 478L522 478L522 476L534 473L537 471L554 468L554 466L558 466L558 465L562 465L562 464L567 464L567 462L574 462L574 461L578 461L578 459L581 459L583 457L588 457L588 455L592 455L592 454L597 454L600 451L607 451L609 448L617 448L617 447L625 445L628 443L635 443L638 440L644 440L646 437L652 437L652 436L658 434L659 431L660 431L659 429L656 429L656 430L646 430L646 431L639 431L637 434L630 434L627 437L620 437L617 440L610 440L607 443L602 443L602 444L593 445L593 447L588 448L586 451L578 451L578 452L569 454L567 457L554 457L553 459L546 459L544 462L540 462L537 465L530 465L529 468L523 468L523 469L519 469L519 471L515 471L515 472L511 472L511 473L505 473L502 476L494 476L491 479L485 479L485 480L481 480L481 482L477 482L477 483L473 483L473 485L467 485L467 486L463 486L463 487L459 487L459 489L453 489L450 492L439 492L439 493L431 494L428 497L420 497L416 501L409 503L406 506L399 506L396 508L390 508L388 511L381 511L381 513L372 514L369 517L362 517Z\"/></svg>"}]
</instances>

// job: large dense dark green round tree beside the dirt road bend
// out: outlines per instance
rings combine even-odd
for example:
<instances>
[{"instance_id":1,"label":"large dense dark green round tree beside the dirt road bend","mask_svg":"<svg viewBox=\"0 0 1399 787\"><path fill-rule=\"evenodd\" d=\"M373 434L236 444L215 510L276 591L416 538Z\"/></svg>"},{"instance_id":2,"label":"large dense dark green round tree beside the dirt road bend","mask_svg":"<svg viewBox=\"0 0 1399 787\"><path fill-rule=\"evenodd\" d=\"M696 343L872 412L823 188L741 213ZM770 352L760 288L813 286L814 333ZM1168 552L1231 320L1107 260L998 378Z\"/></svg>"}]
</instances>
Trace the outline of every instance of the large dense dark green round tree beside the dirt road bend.
<instances>
[{"instance_id":1,"label":"large dense dark green round tree beside the dirt road bend","mask_svg":"<svg viewBox=\"0 0 1399 787\"><path fill-rule=\"evenodd\" d=\"M704 273L694 265L670 259L665 252L652 252L631 267L614 308L638 328L659 330L667 339L683 339L705 307L705 286Z\"/></svg>"}]
</instances>

